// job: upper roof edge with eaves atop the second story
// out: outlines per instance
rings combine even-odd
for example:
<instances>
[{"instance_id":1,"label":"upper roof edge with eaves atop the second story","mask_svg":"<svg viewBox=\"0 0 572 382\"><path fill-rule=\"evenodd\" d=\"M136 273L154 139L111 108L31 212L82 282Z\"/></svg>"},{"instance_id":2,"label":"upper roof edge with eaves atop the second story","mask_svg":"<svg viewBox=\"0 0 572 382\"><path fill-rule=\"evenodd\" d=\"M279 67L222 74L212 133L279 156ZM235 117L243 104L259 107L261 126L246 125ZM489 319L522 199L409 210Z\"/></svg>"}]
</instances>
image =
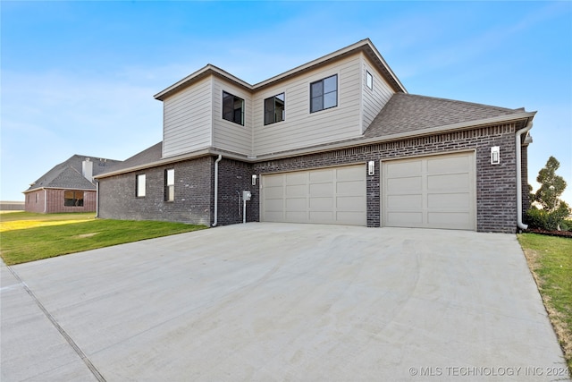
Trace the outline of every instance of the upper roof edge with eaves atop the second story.
<instances>
[{"instance_id":1,"label":"upper roof edge with eaves atop the second story","mask_svg":"<svg viewBox=\"0 0 572 382\"><path fill-rule=\"evenodd\" d=\"M278 74L268 80L258 82L256 85L250 85L248 82L240 80L238 77L233 76L229 72L223 71L223 69L220 69L213 64L207 64L197 72L189 74L189 76L185 77L181 81L177 81L170 87L158 92L154 97L163 101L165 98L182 89L188 88L193 83L202 80L208 75L221 77L227 81L233 82L245 90L255 91L273 85L276 82L288 80L291 77L300 75L304 72L314 70L315 68L324 66L325 64L330 64L348 55L354 55L357 52L363 52L367 57L369 57L377 69L383 73L384 79L388 81L393 90L397 92L407 92L395 73L391 71L390 66L385 62L383 56L379 53L377 48L374 47L374 44L371 42L371 40L369 38L365 38L355 44L350 45L349 47L341 48L340 50L337 50L329 55L324 55L323 57L317 58L314 61L310 61L307 64L299 65L298 67L291 69L288 72L283 72L282 74Z\"/></svg>"}]
</instances>

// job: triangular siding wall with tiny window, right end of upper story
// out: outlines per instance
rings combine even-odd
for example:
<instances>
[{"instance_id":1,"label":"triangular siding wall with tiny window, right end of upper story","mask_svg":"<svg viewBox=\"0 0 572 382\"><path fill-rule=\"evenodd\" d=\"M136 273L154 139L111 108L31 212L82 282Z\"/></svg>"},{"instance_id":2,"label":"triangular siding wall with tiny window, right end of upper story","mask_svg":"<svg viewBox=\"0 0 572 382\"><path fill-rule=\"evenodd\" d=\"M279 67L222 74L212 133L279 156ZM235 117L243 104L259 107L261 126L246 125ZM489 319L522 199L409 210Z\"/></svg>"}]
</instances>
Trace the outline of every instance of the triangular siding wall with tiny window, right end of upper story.
<instances>
[{"instance_id":1,"label":"triangular siding wall with tiny window, right end of upper story","mask_svg":"<svg viewBox=\"0 0 572 382\"><path fill-rule=\"evenodd\" d=\"M370 64L369 60L366 59L365 55L361 55L362 58L362 132L365 132L370 123L374 120L375 116L378 115L383 106L390 100L394 91L391 89L390 85L383 79L380 72L374 70L374 66ZM366 76L367 72L370 72L374 77L374 89L369 89L367 87Z\"/></svg>"}]
</instances>

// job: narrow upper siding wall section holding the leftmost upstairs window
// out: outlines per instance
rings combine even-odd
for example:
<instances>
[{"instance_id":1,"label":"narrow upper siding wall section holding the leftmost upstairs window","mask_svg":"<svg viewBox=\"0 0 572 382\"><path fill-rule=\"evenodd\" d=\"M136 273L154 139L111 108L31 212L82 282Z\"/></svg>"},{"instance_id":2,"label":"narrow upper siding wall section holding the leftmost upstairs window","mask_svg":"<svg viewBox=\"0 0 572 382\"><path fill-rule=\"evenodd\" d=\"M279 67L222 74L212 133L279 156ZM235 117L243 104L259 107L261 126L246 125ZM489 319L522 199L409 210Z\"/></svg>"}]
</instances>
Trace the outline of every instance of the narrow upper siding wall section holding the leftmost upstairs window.
<instances>
[{"instance_id":1,"label":"narrow upper siding wall section holding the leftmost upstairs window","mask_svg":"<svg viewBox=\"0 0 572 382\"><path fill-rule=\"evenodd\" d=\"M223 91L244 99L244 126L223 119ZM252 153L252 96L218 78L213 80L213 146L240 154Z\"/></svg>"}]
</instances>

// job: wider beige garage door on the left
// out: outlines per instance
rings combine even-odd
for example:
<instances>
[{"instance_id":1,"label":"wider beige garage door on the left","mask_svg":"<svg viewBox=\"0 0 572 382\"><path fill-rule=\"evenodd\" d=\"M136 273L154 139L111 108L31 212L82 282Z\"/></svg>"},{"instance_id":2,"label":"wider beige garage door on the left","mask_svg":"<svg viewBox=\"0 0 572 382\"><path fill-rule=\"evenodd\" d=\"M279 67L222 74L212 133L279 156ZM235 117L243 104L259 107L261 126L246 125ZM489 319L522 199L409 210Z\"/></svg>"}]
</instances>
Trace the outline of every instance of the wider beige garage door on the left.
<instances>
[{"instance_id":1,"label":"wider beige garage door on the left","mask_svg":"<svg viewBox=\"0 0 572 382\"><path fill-rule=\"evenodd\" d=\"M263 175L262 221L366 225L366 166Z\"/></svg>"}]
</instances>

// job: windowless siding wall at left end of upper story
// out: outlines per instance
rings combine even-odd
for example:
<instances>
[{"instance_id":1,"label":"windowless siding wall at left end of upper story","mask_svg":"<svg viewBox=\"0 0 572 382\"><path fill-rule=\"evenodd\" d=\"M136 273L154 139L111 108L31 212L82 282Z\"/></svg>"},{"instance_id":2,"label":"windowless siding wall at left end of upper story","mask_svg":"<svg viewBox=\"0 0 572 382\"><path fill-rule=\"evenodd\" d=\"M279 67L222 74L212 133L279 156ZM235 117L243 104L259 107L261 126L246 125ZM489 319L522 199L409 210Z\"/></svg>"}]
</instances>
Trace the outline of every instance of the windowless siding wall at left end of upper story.
<instances>
[{"instance_id":1,"label":"windowless siding wall at left end of upper story","mask_svg":"<svg viewBox=\"0 0 572 382\"><path fill-rule=\"evenodd\" d=\"M163 157L212 145L212 77L164 100Z\"/></svg>"}]
</instances>

